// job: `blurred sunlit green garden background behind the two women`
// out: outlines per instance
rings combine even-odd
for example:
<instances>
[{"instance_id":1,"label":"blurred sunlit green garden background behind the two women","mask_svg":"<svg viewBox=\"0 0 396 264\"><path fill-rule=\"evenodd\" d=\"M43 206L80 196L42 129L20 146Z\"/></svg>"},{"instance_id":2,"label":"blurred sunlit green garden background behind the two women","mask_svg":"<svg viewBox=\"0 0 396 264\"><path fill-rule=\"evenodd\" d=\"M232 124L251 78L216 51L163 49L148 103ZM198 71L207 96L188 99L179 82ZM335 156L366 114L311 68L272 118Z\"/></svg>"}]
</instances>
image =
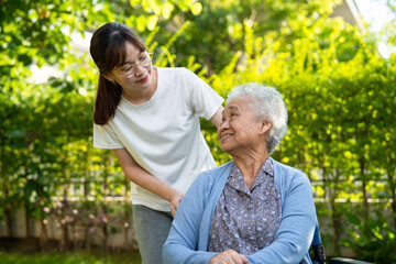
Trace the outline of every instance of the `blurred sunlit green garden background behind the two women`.
<instances>
[{"instance_id":1,"label":"blurred sunlit green garden background behind the two women","mask_svg":"<svg viewBox=\"0 0 396 264\"><path fill-rule=\"evenodd\" d=\"M2 263L140 263L129 183L92 148L92 32L125 23L158 67L226 97L285 97L273 157L312 183L328 256L396 263L395 0L0 0ZM172 95L170 95L172 96ZM218 164L215 128L201 121Z\"/></svg>"}]
</instances>

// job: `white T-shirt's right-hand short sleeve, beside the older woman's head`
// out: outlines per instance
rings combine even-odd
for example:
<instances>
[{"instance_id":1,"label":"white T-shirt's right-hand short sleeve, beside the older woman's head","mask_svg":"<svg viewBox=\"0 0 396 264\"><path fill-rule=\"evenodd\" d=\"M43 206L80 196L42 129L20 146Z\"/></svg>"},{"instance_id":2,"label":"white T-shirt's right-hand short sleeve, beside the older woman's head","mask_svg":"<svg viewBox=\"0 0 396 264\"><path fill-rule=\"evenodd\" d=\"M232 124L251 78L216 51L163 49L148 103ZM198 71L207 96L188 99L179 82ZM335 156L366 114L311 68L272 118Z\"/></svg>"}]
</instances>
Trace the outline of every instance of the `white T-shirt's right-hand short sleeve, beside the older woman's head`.
<instances>
[{"instance_id":1,"label":"white T-shirt's right-hand short sleeve, beside the older woman's head","mask_svg":"<svg viewBox=\"0 0 396 264\"><path fill-rule=\"evenodd\" d=\"M206 120L211 119L224 99L189 69L186 69L186 97L194 111Z\"/></svg>"}]
</instances>

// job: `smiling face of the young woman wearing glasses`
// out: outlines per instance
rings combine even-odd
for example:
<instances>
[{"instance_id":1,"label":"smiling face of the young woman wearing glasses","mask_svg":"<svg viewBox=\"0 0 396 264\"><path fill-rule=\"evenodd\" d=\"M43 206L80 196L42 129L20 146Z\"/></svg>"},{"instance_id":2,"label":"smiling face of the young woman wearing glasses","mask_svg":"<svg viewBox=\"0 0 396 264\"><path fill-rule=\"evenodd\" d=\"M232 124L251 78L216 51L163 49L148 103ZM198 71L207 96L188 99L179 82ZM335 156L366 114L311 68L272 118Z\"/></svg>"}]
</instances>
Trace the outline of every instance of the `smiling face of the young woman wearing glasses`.
<instances>
[{"instance_id":1,"label":"smiling face of the young woman wearing glasses","mask_svg":"<svg viewBox=\"0 0 396 264\"><path fill-rule=\"evenodd\" d=\"M125 61L112 70L110 78L116 80L125 92L139 91L151 88L152 73L152 57L147 51L141 52L133 44L128 43Z\"/></svg>"}]
</instances>

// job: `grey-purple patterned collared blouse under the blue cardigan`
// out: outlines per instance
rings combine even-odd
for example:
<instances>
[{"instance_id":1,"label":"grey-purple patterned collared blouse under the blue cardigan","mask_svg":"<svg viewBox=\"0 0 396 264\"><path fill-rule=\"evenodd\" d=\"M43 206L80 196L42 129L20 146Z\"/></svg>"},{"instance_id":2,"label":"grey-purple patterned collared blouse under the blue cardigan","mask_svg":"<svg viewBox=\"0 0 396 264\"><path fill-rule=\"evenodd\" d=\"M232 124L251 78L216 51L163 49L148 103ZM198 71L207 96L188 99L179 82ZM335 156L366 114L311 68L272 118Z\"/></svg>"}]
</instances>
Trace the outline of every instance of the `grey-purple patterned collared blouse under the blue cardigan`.
<instances>
[{"instance_id":1,"label":"grey-purple patterned collared blouse under the blue cardigan","mask_svg":"<svg viewBox=\"0 0 396 264\"><path fill-rule=\"evenodd\" d=\"M280 195L271 158L258 170L250 190L234 164L215 209L208 251L231 249L251 255L274 241L280 217Z\"/></svg>"}]
</instances>

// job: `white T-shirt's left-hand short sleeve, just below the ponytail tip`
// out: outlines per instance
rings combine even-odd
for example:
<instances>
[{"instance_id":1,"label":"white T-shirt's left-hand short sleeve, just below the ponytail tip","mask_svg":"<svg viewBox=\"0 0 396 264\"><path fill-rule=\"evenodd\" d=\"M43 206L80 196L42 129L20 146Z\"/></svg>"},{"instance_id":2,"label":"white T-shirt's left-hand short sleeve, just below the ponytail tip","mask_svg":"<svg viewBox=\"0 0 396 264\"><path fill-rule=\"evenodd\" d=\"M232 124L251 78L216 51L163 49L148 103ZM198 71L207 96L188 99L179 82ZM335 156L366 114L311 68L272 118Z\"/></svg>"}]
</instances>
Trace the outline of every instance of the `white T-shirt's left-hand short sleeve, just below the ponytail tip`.
<instances>
[{"instance_id":1,"label":"white T-shirt's left-hand short sleeve, just below the ponytail tip","mask_svg":"<svg viewBox=\"0 0 396 264\"><path fill-rule=\"evenodd\" d=\"M124 147L124 145L109 124L94 123L94 147L117 150Z\"/></svg>"}]
</instances>

